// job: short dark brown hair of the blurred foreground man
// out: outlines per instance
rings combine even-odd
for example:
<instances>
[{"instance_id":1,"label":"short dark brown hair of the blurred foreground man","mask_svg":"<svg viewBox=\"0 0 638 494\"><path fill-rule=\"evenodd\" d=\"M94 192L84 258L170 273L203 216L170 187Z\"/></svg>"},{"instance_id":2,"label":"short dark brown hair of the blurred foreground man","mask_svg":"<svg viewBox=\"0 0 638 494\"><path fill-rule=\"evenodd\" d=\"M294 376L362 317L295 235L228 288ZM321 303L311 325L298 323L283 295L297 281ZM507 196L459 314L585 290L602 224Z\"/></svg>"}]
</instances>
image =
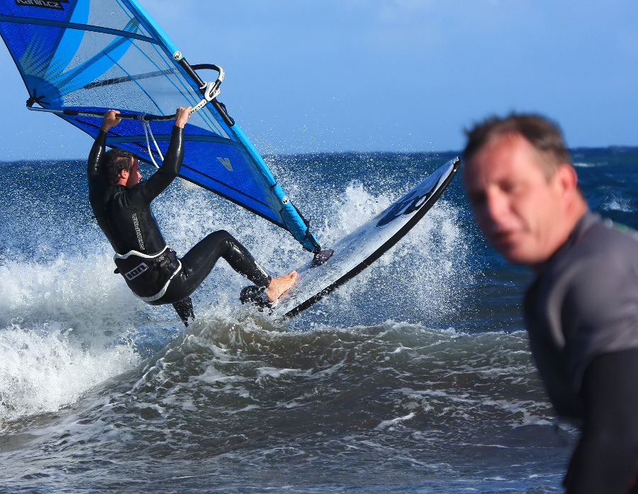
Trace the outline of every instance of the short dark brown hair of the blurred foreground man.
<instances>
[{"instance_id":1,"label":"short dark brown hair of the blurred foreground man","mask_svg":"<svg viewBox=\"0 0 638 494\"><path fill-rule=\"evenodd\" d=\"M468 162L494 137L517 134L524 137L542 155L548 159L545 172L554 174L560 163L571 164L571 155L565 145L563 133L558 124L548 118L531 113L510 113L500 118L491 116L473 128L465 130L467 144L463 158Z\"/></svg>"}]
</instances>

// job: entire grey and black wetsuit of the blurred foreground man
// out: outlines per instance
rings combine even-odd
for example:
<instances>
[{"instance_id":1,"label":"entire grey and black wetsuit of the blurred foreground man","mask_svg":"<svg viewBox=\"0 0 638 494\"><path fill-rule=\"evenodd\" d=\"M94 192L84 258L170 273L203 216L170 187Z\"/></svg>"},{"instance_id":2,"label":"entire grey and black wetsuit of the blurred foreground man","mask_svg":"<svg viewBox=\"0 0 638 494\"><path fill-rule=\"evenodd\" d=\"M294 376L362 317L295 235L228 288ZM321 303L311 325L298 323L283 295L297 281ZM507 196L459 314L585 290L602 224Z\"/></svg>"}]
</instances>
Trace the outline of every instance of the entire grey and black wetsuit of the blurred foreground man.
<instances>
[{"instance_id":1,"label":"entire grey and black wetsuit of the blurred foreground man","mask_svg":"<svg viewBox=\"0 0 638 494\"><path fill-rule=\"evenodd\" d=\"M525 322L552 405L582 431L567 492L638 492L635 235L586 213L527 291Z\"/></svg>"}]
</instances>

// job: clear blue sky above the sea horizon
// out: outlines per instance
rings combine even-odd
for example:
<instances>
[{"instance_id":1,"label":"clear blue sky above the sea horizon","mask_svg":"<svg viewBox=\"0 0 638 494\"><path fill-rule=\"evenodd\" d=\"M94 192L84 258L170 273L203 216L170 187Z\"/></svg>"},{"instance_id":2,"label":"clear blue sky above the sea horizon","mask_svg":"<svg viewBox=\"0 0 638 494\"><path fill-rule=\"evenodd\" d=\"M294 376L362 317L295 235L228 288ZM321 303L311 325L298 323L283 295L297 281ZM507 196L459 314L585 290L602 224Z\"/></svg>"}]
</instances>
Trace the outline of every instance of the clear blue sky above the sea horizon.
<instances>
[{"instance_id":1,"label":"clear blue sky above the sea horizon","mask_svg":"<svg viewBox=\"0 0 638 494\"><path fill-rule=\"evenodd\" d=\"M557 120L568 145L638 146L636 0L141 0L264 153L461 150L493 113ZM0 159L84 158L24 108L0 44Z\"/></svg>"}]
</instances>

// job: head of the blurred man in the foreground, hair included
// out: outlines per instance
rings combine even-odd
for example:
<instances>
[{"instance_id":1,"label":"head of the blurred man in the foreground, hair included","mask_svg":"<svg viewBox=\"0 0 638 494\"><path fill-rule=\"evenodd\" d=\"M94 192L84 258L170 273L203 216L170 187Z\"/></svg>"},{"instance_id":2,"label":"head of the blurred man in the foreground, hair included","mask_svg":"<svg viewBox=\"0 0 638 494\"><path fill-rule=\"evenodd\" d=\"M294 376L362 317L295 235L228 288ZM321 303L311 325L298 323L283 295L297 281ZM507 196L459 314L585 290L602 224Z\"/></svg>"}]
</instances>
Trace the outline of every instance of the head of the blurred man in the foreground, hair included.
<instances>
[{"instance_id":1,"label":"head of the blurred man in the foreground, hair included","mask_svg":"<svg viewBox=\"0 0 638 494\"><path fill-rule=\"evenodd\" d=\"M540 266L587 208L559 128L513 114L467 135L464 182L476 222L505 259Z\"/></svg>"}]
</instances>

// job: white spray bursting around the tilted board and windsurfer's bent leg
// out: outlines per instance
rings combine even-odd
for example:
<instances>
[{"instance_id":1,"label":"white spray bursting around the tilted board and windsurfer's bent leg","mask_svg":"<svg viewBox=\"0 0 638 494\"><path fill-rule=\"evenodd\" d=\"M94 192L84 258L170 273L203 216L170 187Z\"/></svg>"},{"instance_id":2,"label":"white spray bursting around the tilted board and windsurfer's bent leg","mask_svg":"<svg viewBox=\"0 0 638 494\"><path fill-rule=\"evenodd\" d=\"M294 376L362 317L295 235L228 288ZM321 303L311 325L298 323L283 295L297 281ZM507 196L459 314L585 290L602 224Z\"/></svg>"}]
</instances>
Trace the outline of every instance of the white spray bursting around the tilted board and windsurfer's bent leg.
<instances>
[{"instance_id":1,"label":"white spray bursting around the tilted board and windsurfer's bent leg","mask_svg":"<svg viewBox=\"0 0 638 494\"><path fill-rule=\"evenodd\" d=\"M324 247L334 245L398 199L398 193L374 191L373 186L379 185L358 180L335 184L335 190L321 200L310 201L315 210L311 208L306 214L320 218L315 219L312 229ZM225 229L272 274L284 274L310 260L310 254L289 233L263 218L206 191L185 192L174 187L171 193L158 201L155 212L167 241L180 254L208 233ZM176 208L175 203L180 207ZM373 310L372 301L379 300L389 311L386 318L444 320L459 310L459 294L471 282L471 260L466 257L471 239L461 227L460 214L442 198L396 247L313 310L326 307L324 318L330 320L347 318L356 308L352 318L366 320L366 314L371 315ZM194 293L196 313L205 317L233 315L237 294L249 283L223 260L218 262ZM313 313L312 319L317 322L320 314Z\"/></svg>"}]
</instances>

